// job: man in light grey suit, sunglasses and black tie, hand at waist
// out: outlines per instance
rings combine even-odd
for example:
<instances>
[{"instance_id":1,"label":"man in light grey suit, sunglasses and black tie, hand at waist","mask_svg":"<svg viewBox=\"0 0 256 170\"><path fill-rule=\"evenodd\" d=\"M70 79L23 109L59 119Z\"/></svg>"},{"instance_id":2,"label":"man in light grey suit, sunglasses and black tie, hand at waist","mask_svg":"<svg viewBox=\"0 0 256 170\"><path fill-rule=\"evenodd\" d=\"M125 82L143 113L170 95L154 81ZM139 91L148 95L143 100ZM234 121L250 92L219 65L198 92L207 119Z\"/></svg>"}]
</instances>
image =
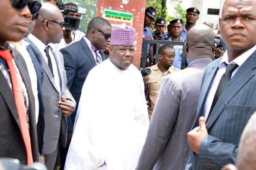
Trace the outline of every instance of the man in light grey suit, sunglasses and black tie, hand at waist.
<instances>
[{"instance_id":1,"label":"man in light grey suit, sunglasses and black tie, hand at waist","mask_svg":"<svg viewBox=\"0 0 256 170\"><path fill-rule=\"evenodd\" d=\"M45 164L48 170L53 170L59 142L62 147L67 143L66 117L73 113L76 102L67 88L63 56L51 45L60 42L63 36L63 16L60 10L50 3L43 3L38 14L32 35L28 37L37 46L43 58Z\"/></svg>"}]
</instances>

